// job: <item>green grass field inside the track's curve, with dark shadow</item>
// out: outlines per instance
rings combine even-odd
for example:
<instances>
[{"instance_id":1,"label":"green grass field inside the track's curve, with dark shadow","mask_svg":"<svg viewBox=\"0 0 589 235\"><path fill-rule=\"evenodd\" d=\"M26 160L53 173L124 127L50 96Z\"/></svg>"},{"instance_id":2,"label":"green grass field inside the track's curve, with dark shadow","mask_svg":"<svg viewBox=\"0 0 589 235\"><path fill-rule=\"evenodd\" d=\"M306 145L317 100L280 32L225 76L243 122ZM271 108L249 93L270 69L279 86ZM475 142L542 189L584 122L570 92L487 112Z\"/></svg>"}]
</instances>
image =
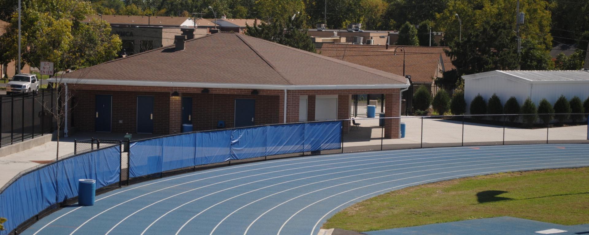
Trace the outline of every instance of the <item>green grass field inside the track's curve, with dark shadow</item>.
<instances>
[{"instance_id":1,"label":"green grass field inside the track's curve, with dark shadow","mask_svg":"<svg viewBox=\"0 0 589 235\"><path fill-rule=\"evenodd\" d=\"M408 187L354 204L323 228L372 231L497 216L574 225L589 223L588 215L589 167L583 167Z\"/></svg>"}]
</instances>

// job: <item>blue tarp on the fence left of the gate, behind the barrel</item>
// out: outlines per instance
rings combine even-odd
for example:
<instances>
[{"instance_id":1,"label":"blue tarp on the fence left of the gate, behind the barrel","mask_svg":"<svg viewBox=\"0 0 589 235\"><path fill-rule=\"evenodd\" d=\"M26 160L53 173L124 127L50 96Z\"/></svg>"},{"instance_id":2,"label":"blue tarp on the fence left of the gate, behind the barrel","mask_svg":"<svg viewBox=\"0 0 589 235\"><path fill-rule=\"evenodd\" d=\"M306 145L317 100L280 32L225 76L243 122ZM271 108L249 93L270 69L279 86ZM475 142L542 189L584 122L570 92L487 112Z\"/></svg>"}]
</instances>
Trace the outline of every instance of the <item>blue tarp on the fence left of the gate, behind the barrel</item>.
<instances>
[{"instance_id":1,"label":"blue tarp on the fence left of the gate, behind the barrel","mask_svg":"<svg viewBox=\"0 0 589 235\"><path fill-rule=\"evenodd\" d=\"M96 180L97 189L118 183L120 156L121 147L117 145L59 160L16 179L0 193L0 217L8 219L0 235L49 206L78 196L80 179Z\"/></svg>"}]
</instances>

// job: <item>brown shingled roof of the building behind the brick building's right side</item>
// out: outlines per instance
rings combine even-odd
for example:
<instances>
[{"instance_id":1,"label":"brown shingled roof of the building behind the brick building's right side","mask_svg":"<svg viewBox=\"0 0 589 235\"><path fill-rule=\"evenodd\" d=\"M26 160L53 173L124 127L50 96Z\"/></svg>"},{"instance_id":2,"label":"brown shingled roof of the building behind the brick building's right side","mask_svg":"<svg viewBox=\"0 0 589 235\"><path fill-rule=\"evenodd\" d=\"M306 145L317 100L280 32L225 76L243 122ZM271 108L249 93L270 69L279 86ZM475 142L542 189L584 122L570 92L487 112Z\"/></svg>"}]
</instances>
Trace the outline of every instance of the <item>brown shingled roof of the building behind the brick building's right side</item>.
<instances>
[{"instance_id":1,"label":"brown shingled roof of the building behind the brick building's right side","mask_svg":"<svg viewBox=\"0 0 589 235\"><path fill-rule=\"evenodd\" d=\"M317 53L330 58L341 59L350 63L367 66L373 69L383 70L398 75L403 74L403 52L398 49L395 55L395 47L380 45L352 45L323 43L317 48ZM432 83L438 72L440 56L444 62L445 70L451 70L454 66L444 53L441 46L403 46L405 55L405 75L411 75L411 80L416 83Z\"/></svg>"}]
</instances>

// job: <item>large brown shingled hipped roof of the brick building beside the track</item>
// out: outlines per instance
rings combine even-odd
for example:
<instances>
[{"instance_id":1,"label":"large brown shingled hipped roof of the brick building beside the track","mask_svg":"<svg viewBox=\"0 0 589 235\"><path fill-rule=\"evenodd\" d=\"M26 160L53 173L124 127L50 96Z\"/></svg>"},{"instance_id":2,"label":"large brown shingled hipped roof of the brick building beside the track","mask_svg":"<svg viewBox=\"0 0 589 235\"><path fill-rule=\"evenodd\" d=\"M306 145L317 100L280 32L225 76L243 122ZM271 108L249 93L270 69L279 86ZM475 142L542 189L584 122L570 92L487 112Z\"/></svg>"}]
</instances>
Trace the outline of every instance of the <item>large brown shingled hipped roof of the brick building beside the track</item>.
<instances>
[{"instance_id":1,"label":"large brown shingled hipped roof of the brick building beside the track","mask_svg":"<svg viewBox=\"0 0 589 235\"><path fill-rule=\"evenodd\" d=\"M406 79L239 33L185 43L67 73L66 78L279 86L405 85Z\"/></svg>"}]
</instances>

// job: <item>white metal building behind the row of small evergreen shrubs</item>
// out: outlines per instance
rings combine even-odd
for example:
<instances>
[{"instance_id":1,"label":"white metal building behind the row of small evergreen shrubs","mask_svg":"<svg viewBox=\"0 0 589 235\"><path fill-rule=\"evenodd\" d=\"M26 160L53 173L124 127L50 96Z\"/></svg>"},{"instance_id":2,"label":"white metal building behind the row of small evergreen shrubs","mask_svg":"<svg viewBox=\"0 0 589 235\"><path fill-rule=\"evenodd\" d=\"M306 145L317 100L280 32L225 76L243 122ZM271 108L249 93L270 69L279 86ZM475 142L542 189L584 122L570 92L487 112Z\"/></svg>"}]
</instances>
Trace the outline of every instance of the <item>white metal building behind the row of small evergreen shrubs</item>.
<instances>
[{"instance_id":1,"label":"white metal building behind the row of small evergreen shrubs","mask_svg":"<svg viewBox=\"0 0 589 235\"><path fill-rule=\"evenodd\" d=\"M522 105L528 97L536 106L546 98L554 102L564 95L567 99L578 96L581 100L589 97L589 70L494 70L462 76L466 112L472 99L481 94L488 100L494 93L505 102L517 98Z\"/></svg>"}]
</instances>

